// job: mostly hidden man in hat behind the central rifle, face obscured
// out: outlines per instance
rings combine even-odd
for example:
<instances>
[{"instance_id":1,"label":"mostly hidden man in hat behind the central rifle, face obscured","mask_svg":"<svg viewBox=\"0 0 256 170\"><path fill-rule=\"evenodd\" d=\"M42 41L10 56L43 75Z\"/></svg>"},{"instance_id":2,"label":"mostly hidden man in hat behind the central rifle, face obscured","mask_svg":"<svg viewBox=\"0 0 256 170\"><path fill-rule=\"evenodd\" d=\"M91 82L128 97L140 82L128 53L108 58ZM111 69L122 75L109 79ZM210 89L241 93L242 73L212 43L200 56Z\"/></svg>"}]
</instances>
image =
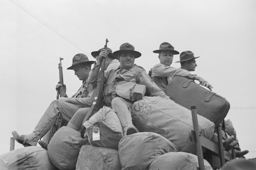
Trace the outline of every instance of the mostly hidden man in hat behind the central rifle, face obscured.
<instances>
[{"instance_id":1,"label":"mostly hidden man in hat behind the central rifle, face obscured","mask_svg":"<svg viewBox=\"0 0 256 170\"><path fill-rule=\"evenodd\" d=\"M99 53L102 51L102 48L98 51L91 52L92 56L98 61L99 59ZM108 57L105 60L105 68L104 70L108 69L115 69L118 68L120 65L120 62L116 59L116 57L113 56L112 50L110 48L107 48Z\"/></svg>"}]
</instances>

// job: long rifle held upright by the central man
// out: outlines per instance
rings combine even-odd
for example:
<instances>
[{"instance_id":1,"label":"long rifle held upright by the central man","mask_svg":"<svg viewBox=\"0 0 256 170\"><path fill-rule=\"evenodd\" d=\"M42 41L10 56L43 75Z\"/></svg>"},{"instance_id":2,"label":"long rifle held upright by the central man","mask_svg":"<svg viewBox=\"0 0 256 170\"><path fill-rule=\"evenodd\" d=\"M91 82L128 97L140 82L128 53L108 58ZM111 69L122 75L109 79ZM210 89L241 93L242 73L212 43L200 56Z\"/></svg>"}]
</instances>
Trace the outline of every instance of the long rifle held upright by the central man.
<instances>
[{"instance_id":1,"label":"long rifle held upright by the central man","mask_svg":"<svg viewBox=\"0 0 256 170\"><path fill-rule=\"evenodd\" d=\"M106 44L104 46L105 49L108 47L108 39L106 39ZM105 72L105 58L102 59L102 65L101 70L99 71L98 81L97 81L97 87L96 87L96 94L95 94L95 101L93 102L93 105L91 106L89 112L84 117L84 121L82 122L81 126L81 137L85 138L84 133L86 128L84 127L84 122L87 121L89 116L97 113L100 108L102 108L102 98L103 98L103 83L104 83L104 72Z\"/></svg>"}]
</instances>

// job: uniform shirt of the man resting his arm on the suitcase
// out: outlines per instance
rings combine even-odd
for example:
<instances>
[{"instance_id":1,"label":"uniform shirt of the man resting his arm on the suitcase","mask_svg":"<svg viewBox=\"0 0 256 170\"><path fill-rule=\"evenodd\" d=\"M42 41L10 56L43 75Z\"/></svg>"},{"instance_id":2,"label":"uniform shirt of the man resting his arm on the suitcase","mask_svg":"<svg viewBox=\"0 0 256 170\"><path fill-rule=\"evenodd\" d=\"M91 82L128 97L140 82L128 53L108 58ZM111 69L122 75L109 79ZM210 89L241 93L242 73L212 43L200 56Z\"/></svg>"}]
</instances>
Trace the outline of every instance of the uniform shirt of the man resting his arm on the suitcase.
<instances>
[{"instance_id":1,"label":"uniform shirt of the man resting his arm on the suitcase","mask_svg":"<svg viewBox=\"0 0 256 170\"><path fill-rule=\"evenodd\" d=\"M167 85L174 76L182 76L188 79L195 79L196 74L191 74L181 68L174 68L168 65L163 65L161 63L155 65L150 69L149 75L151 79L158 85L159 88L165 90Z\"/></svg>"}]
</instances>

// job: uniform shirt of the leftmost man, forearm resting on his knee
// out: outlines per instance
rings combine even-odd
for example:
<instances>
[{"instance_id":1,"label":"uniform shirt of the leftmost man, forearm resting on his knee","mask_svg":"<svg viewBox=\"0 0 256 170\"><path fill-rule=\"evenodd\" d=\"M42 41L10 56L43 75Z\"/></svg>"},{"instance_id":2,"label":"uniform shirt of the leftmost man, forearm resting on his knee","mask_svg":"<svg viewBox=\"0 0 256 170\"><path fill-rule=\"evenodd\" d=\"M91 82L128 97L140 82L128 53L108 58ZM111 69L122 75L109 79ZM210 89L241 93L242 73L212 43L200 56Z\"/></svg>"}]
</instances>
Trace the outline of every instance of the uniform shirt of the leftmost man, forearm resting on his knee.
<instances>
[{"instance_id":1,"label":"uniform shirt of the leftmost man, forearm resting on his knee","mask_svg":"<svg viewBox=\"0 0 256 170\"><path fill-rule=\"evenodd\" d=\"M95 95L95 87L89 84L87 81L83 81L83 84L79 88L79 90L72 97L61 97L60 100L64 102L69 102L74 105L78 105L82 108L91 107L93 104L93 98Z\"/></svg>"}]
</instances>

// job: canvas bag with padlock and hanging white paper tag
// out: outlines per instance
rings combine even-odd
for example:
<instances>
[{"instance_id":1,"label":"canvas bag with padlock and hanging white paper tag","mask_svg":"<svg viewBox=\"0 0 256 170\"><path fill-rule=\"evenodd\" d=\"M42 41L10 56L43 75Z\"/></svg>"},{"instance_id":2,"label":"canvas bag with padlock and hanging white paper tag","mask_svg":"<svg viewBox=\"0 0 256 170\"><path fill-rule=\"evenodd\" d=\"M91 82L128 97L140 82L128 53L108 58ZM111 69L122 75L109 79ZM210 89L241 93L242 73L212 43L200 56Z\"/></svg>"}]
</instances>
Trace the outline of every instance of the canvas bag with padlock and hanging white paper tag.
<instances>
[{"instance_id":1,"label":"canvas bag with padlock and hanging white paper tag","mask_svg":"<svg viewBox=\"0 0 256 170\"><path fill-rule=\"evenodd\" d=\"M116 113L106 106L103 106L97 113L84 122L89 142L93 146L118 149L118 142L122 139L123 130ZM98 128L99 140L93 140L93 128Z\"/></svg>"}]
</instances>

